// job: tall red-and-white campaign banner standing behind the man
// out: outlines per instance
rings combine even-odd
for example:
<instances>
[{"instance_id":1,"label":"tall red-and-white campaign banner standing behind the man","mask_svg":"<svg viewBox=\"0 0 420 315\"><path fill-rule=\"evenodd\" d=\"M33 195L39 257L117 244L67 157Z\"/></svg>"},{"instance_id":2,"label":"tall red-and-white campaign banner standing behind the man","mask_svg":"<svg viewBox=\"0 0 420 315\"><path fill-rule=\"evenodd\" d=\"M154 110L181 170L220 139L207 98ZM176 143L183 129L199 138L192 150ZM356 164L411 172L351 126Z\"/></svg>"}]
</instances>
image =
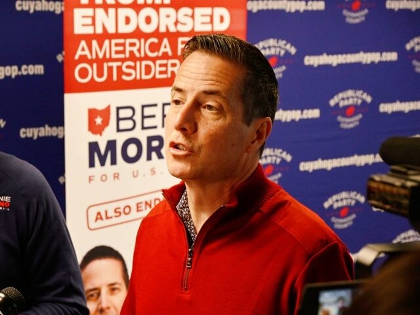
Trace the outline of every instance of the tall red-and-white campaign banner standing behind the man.
<instances>
[{"instance_id":1,"label":"tall red-and-white campaign banner standing behind the man","mask_svg":"<svg viewBox=\"0 0 420 315\"><path fill-rule=\"evenodd\" d=\"M196 34L245 39L246 15L244 0L66 2L66 218L79 261L107 245L131 270L141 219L179 181L163 129L181 50Z\"/></svg>"}]
</instances>

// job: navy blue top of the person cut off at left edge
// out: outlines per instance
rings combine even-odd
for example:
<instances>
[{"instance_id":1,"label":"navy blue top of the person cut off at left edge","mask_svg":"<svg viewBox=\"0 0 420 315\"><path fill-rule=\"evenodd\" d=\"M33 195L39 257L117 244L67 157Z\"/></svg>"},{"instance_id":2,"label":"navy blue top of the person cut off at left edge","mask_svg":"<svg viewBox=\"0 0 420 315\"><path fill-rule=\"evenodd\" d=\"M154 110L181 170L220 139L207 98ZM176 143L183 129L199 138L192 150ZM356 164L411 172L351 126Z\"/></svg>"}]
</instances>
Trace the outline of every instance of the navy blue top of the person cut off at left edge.
<instances>
[{"instance_id":1,"label":"navy blue top of the person cut off at left edge","mask_svg":"<svg viewBox=\"0 0 420 315\"><path fill-rule=\"evenodd\" d=\"M21 315L89 314L63 212L30 163L0 152L0 290L25 298Z\"/></svg>"}]
</instances>

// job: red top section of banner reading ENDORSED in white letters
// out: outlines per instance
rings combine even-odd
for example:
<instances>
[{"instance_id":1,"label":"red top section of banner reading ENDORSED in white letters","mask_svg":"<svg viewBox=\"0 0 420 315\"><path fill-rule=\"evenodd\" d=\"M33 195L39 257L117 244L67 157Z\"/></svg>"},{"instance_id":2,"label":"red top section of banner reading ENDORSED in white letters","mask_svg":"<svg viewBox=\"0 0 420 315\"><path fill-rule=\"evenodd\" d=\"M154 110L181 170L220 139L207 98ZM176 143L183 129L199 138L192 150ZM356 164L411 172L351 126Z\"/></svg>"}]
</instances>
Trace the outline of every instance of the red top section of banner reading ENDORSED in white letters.
<instances>
[{"instance_id":1,"label":"red top section of banner reading ENDORSED in white letters","mask_svg":"<svg viewBox=\"0 0 420 315\"><path fill-rule=\"evenodd\" d=\"M246 14L245 0L68 1L64 92L170 86L189 38L227 33L245 39Z\"/></svg>"}]
</instances>

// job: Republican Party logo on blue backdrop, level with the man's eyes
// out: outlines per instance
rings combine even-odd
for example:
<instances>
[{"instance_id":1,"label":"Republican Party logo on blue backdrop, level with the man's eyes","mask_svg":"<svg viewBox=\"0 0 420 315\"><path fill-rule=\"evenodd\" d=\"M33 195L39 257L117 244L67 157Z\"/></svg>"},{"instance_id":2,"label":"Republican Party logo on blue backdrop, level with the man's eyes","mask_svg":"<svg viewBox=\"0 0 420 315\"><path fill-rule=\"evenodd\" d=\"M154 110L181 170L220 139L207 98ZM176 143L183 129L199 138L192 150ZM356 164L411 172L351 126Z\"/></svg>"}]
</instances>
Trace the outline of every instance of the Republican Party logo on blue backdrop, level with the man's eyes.
<instances>
[{"instance_id":1,"label":"Republican Party logo on blue backdrop, level with the man's eyes","mask_svg":"<svg viewBox=\"0 0 420 315\"><path fill-rule=\"evenodd\" d=\"M349 89L336 94L329 100L329 105L340 128L351 129L359 125L363 114L368 112L370 102L372 97L365 91Z\"/></svg>"}]
</instances>

